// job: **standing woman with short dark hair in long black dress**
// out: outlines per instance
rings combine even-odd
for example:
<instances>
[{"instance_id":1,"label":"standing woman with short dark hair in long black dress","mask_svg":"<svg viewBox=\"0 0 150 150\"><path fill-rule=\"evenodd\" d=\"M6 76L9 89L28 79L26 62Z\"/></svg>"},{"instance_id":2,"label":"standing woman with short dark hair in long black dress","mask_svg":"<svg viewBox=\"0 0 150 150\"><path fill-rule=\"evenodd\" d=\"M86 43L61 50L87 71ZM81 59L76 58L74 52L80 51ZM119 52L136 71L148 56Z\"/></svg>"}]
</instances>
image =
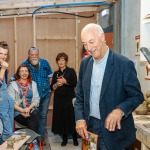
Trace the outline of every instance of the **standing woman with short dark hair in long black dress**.
<instances>
[{"instance_id":1,"label":"standing woman with short dark hair in long black dress","mask_svg":"<svg viewBox=\"0 0 150 150\"><path fill-rule=\"evenodd\" d=\"M56 57L58 70L54 72L51 89L54 91L52 132L63 136L61 146L66 146L68 136L73 136L74 146L78 146L72 99L77 76L74 69L67 67L68 55L59 53Z\"/></svg>"}]
</instances>

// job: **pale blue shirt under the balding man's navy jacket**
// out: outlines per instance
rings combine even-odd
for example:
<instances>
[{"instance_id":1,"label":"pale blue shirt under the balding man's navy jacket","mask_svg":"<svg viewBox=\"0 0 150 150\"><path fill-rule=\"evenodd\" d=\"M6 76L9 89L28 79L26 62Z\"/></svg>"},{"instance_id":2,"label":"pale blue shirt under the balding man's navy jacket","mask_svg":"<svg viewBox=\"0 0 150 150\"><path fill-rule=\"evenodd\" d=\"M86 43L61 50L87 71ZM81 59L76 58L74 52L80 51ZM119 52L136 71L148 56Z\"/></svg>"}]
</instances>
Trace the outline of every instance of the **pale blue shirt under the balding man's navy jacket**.
<instances>
[{"instance_id":1,"label":"pale blue shirt under the balding man's navy jacket","mask_svg":"<svg viewBox=\"0 0 150 150\"><path fill-rule=\"evenodd\" d=\"M91 78L91 89L90 89L90 116L101 119L100 117L100 94L106 63L108 59L109 49L105 56L97 62L94 58L92 78Z\"/></svg>"}]
</instances>

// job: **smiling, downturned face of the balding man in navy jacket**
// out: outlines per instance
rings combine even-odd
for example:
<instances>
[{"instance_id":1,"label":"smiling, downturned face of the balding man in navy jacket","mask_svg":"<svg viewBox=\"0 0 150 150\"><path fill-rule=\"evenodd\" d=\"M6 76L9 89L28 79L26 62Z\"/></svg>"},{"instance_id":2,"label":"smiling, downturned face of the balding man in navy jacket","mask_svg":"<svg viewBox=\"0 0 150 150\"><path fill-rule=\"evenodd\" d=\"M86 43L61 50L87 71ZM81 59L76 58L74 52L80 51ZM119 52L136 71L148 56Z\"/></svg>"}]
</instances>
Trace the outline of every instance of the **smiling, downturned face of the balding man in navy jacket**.
<instances>
[{"instance_id":1,"label":"smiling, downturned face of the balding man in navy jacket","mask_svg":"<svg viewBox=\"0 0 150 150\"><path fill-rule=\"evenodd\" d=\"M81 40L86 51L97 61L102 58L104 34L96 34L93 30L85 30L81 33Z\"/></svg>"}]
</instances>

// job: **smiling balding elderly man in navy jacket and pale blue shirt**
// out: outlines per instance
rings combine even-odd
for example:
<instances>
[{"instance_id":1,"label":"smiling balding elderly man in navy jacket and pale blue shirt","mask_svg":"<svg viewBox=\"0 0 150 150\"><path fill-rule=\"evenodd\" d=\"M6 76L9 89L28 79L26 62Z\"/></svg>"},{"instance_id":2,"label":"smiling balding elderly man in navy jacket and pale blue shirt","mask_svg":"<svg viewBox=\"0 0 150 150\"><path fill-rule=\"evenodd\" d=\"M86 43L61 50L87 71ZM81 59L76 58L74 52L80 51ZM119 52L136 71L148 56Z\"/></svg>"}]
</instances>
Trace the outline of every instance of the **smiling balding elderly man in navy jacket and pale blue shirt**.
<instances>
[{"instance_id":1,"label":"smiling balding elderly man in navy jacket and pale blue shirt","mask_svg":"<svg viewBox=\"0 0 150 150\"><path fill-rule=\"evenodd\" d=\"M76 130L84 139L87 131L97 134L98 150L130 149L136 139L132 112L144 100L134 63L106 45L98 24L87 24L81 40L91 56L80 66Z\"/></svg>"}]
</instances>

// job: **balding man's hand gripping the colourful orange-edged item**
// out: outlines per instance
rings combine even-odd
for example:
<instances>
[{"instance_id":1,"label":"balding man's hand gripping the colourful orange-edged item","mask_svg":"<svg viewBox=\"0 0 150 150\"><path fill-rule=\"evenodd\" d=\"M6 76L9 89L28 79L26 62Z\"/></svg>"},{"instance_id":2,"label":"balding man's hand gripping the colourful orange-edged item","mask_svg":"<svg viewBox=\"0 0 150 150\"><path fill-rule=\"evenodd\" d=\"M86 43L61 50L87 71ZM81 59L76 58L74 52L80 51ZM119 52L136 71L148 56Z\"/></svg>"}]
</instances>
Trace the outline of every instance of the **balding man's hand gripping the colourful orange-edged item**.
<instances>
[{"instance_id":1,"label":"balding man's hand gripping the colourful orange-edged item","mask_svg":"<svg viewBox=\"0 0 150 150\"><path fill-rule=\"evenodd\" d=\"M85 120L76 121L76 131L83 139L86 139L88 137L87 125Z\"/></svg>"}]
</instances>

